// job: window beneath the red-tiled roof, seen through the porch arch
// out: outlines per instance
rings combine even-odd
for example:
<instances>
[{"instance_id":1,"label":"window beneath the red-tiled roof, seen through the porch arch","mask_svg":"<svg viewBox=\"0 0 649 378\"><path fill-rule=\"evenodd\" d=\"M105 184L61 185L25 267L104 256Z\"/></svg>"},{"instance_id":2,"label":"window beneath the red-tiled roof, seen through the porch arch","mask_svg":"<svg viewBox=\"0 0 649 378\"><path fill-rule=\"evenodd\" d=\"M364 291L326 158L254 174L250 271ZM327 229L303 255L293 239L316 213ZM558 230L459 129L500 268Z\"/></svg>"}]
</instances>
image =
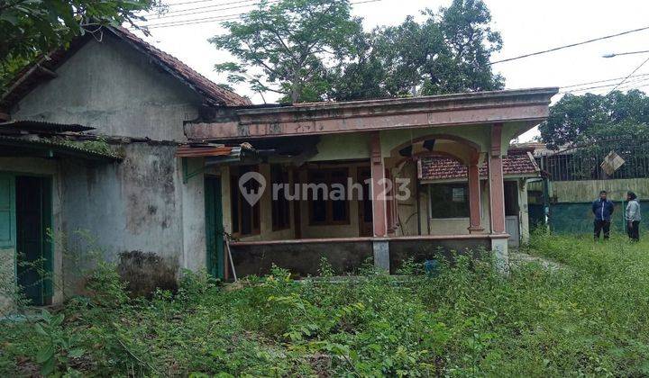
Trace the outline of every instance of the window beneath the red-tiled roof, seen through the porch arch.
<instances>
[{"instance_id":1,"label":"window beneath the red-tiled roof, seen through the porch arch","mask_svg":"<svg viewBox=\"0 0 649 378\"><path fill-rule=\"evenodd\" d=\"M431 184L430 185L431 218L468 218L469 185Z\"/></svg>"}]
</instances>

